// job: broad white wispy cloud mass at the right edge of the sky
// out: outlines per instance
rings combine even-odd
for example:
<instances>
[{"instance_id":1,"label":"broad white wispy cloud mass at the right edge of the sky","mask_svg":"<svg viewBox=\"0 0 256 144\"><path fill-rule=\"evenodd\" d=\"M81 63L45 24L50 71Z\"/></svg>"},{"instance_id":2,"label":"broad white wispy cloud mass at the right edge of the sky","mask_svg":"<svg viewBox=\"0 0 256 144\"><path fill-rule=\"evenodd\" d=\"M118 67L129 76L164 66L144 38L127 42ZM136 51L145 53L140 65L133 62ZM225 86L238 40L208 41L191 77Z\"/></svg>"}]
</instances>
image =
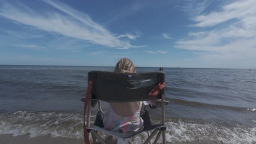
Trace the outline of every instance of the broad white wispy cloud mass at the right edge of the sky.
<instances>
[{"instance_id":1,"label":"broad white wispy cloud mass at the right edge of the sky","mask_svg":"<svg viewBox=\"0 0 256 144\"><path fill-rule=\"evenodd\" d=\"M236 1L218 11L191 17L196 29L187 38L176 41L174 47L207 51L204 58L255 59L256 1ZM234 19L232 21L228 21ZM218 27L212 27L216 26ZM234 62L234 61L233 61Z\"/></svg>"}]
</instances>

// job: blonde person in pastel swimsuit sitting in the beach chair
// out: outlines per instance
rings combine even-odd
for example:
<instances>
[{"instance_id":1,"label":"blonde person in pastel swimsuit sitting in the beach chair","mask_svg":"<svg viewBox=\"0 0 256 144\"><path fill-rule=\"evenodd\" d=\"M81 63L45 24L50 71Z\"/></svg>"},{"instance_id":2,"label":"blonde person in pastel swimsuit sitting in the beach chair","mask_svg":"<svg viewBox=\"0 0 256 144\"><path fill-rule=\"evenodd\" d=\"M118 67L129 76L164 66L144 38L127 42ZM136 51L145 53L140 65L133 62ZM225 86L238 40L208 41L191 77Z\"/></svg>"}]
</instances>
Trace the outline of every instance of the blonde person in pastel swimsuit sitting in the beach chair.
<instances>
[{"instance_id":1,"label":"blonde person in pastel swimsuit sitting in the beach chair","mask_svg":"<svg viewBox=\"0 0 256 144\"><path fill-rule=\"evenodd\" d=\"M115 73L136 73L135 65L128 58L121 58L115 65ZM109 103L109 111L103 118L104 129L127 133L143 129L142 101Z\"/></svg>"}]
</instances>

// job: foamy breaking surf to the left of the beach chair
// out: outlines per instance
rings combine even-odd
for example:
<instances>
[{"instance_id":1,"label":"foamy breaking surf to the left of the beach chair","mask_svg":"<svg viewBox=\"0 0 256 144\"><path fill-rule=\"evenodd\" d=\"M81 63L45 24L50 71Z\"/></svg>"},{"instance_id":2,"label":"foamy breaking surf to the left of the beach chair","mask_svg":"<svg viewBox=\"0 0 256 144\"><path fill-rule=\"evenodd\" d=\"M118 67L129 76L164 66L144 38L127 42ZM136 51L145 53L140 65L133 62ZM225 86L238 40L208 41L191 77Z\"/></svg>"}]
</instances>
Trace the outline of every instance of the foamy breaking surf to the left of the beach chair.
<instances>
[{"instance_id":1,"label":"foamy breaking surf to the left of the beach chair","mask_svg":"<svg viewBox=\"0 0 256 144\"><path fill-rule=\"evenodd\" d=\"M0 134L26 135L30 138L48 135L81 139L83 115L61 112L26 112L0 114Z\"/></svg>"}]
</instances>

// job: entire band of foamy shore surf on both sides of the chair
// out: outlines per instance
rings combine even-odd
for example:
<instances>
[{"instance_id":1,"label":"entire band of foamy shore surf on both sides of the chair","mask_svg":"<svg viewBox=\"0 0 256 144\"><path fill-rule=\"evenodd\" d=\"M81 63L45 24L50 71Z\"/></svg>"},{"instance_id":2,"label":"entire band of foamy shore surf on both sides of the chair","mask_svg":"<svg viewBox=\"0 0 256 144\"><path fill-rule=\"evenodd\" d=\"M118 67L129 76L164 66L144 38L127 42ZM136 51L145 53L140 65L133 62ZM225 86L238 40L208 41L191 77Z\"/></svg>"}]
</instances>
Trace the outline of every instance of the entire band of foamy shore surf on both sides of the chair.
<instances>
[{"instance_id":1,"label":"entire band of foamy shore surf on both sides of the chair","mask_svg":"<svg viewBox=\"0 0 256 144\"><path fill-rule=\"evenodd\" d=\"M92 117L92 121L95 116ZM153 118L154 121L160 121ZM214 141L216 143L255 143L255 127L241 124L203 122L196 119L167 118L167 143L190 141ZM83 139L83 114L73 112L26 112L0 113L0 134L26 135L30 138L50 135ZM103 137L106 134L100 133ZM132 143L143 143L147 133L132 138ZM161 137L158 141L161 143Z\"/></svg>"}]
</instances>

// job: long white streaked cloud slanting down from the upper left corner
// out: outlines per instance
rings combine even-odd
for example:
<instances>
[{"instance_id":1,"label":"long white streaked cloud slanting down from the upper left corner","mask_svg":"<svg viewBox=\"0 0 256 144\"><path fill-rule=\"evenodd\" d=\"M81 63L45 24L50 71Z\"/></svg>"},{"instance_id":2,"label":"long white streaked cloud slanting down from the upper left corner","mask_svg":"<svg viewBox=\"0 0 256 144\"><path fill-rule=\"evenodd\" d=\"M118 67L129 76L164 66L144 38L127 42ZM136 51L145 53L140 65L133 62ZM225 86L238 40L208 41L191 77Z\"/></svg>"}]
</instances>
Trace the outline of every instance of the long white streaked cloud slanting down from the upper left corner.
<instances>
[{"instance_id":1,"label":"long white streaked cloud slanting down from the upper left corner","mask_svg":"<svg viewBox=\"0 0 256 144\"><path fill-rule=\"evenodd\" d=\"M136 39L136 36L130 34L117 36L91 20L89 15L80 13L66 4L48 0L44 2L61 13L48 10L42 11L39 14L23 4L14 5L1 1L0 16L23 25L32 26L51 33L62 34L67 37L86 40L93 44L119 49L142 47L130 44L128 39Z\"/></svg>"}]
</instances>

